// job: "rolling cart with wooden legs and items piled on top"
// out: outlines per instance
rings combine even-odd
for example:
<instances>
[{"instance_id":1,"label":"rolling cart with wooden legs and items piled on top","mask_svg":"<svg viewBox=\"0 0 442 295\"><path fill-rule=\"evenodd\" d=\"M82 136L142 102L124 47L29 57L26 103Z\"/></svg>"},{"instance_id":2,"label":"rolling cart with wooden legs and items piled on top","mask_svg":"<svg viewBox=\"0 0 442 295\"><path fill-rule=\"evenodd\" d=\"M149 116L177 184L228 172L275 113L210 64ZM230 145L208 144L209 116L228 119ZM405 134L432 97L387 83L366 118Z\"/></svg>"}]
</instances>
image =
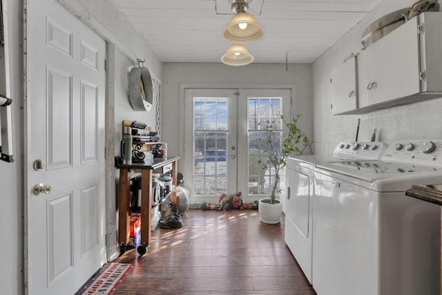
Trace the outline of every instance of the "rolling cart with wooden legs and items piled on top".
<instances>
[{"instance_id":1,"label":"rolling cart with wooden legs and items piled on top","mask_svg":"<svg viewBox=\"0 0 442 295\"><path fill-rule=\"evenodd\" d=\"M166 143L160 142L157 133L151 131L144 122L124 120L122 129L122 142L126 141L125 149L122 144L122 157L115 158L115 167L119 169L118 244L121 253L124 254L129 240L131 182L135 175L138 175L140 187L137 185L136 190L137 193L140 190L141 241L137 252L142 256L146 254L151 241L152 224L155 223L152 214L158 207L154 206L155 200L153 200L155 191L152 184L153 173L171 173L171 187L176 187L179 157L166 157Z\"/></svg>"}]
</instances>

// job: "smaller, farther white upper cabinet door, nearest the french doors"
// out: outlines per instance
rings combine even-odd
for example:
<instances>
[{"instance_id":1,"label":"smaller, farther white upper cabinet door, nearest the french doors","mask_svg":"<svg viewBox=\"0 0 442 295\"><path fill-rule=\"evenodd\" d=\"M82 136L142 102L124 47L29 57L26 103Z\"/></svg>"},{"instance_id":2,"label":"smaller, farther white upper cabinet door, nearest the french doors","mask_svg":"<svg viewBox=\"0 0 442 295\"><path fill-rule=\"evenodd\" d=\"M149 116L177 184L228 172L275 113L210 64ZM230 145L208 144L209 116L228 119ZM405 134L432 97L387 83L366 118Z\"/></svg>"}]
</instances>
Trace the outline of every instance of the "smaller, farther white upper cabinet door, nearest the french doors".
<instances>
[{"instance_id":1,"label":"smaller, farther white upper cabinet door, nearest the french doors","mask_svg":"<svg viewBox=\"0 0 442 295\"><path fill-rule=\"evenodd\" d=\"M332 95L333 115L353 111L358 107L355 57L332 71Z\"/></svg>"}]
</instances>

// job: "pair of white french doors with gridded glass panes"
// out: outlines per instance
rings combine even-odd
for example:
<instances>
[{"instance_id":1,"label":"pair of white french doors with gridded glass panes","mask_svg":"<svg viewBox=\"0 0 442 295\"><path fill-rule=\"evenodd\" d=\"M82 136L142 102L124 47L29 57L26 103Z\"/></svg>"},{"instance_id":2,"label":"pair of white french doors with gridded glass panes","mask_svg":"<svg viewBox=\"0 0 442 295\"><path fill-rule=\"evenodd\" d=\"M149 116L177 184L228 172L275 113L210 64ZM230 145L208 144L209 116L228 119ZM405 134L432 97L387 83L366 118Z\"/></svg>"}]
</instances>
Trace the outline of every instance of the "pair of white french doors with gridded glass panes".
<instances>
[{"instance_id":1,"label":"pair of white french doors with gridded glass panes","mask_svg":"<svg viewBox=\"0 0 442 295\"><path fill-rule=\"evenodd\" d=\"M186 88L184 98L184 175L191 202L218 203L221 193L238 191L246 202L269 195L272 169L258 162L266 161L262 129L267 121L280 122L280 115L290 117L291 90Z\"/></svg>"}]
</instances>

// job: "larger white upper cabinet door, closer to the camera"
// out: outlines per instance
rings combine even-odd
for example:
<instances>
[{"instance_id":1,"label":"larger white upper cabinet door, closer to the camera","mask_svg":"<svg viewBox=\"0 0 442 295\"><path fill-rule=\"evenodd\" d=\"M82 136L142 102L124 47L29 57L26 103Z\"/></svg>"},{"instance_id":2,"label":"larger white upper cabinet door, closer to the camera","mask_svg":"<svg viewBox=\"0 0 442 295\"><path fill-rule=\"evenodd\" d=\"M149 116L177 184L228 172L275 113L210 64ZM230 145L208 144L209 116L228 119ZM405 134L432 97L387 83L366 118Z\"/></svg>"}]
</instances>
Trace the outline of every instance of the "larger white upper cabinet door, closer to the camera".
<instances>
[{"instance_id":1,"label":"larger white upper cabinet door, closer to the camera","mask_svg":"<svg viewBox=\"0 0 442 295\"><path fill-rule=\"evenodd\" d=\"M371 44L366 50L367 80L361 79L359 107L419 93L419 34L417 17ZM361 68L361 70L364 70Z\"/></svg>"}]
</instances>

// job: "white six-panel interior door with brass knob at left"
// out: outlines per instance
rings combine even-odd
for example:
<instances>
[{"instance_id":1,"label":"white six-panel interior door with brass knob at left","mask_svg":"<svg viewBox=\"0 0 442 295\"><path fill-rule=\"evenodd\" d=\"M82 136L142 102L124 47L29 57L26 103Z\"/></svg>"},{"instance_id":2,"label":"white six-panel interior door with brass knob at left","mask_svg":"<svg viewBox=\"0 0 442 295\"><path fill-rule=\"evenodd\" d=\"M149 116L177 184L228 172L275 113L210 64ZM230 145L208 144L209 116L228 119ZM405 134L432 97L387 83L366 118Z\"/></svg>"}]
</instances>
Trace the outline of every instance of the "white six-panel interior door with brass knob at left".
<instances>
[{"instance_id":1,"label":"white six-panel interior door with brass knob at left","mask_svg":"<svg viewBox=\"0 0 442 295\"><path fill-rule=\"evenodd\" d=\"M54 0L26 9L26 287L74 294L106 262L105 42Z\"/></svg>"}]
</instances>

